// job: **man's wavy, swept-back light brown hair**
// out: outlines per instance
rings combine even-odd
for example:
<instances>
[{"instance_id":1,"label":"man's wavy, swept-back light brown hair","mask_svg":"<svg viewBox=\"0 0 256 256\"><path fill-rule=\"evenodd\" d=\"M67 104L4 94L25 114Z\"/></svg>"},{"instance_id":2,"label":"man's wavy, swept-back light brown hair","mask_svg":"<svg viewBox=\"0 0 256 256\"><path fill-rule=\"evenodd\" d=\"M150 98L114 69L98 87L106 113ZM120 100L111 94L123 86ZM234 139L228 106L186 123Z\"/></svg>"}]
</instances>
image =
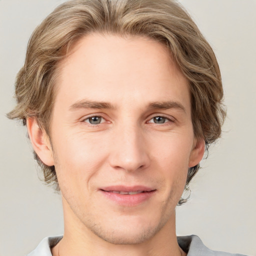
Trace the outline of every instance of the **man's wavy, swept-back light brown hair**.
<instances>
[{"instance_id":1,"label":"man's wavy, swept-back light brown hair","mask_svg":"<svg viewBox=\"0 0 256 256\"><path fill-rule=\"evenodd\" d=\"M59 5L32 33L24 66L17 74L17 104L7 116L35 117L50 134L57 63L70 46L92 32L120 36L147 36L163 43L187 78L195 137L203 138L205 150L221 135L225 117L223 89L215 54L189 14L175 0L70 0ZM54 166L45 165L34 152L44 181L58 188ZM188 169L185 190L199 169ZM179 204L185 202L181 198Z\"/></svg>"}]
</instances>

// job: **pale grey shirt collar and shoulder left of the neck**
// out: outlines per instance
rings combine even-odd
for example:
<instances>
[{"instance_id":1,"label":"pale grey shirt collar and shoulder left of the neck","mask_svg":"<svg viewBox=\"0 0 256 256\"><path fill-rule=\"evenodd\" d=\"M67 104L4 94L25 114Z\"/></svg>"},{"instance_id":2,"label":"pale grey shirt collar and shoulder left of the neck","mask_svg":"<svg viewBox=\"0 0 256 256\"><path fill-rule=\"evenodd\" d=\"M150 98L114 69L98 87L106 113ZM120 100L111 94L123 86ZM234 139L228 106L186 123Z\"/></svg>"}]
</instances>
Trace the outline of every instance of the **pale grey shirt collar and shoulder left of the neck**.
<instances>
[{"instance_id":1,"label":"pale grey shirt collar and shoulder left of the neck","mask_svg":"<svg viewBox=\"0 0 256 256\"><path fill-rule=\"evenodd\" d=\"M52 256L50 248L57 244L62 238L62 235L49 236L41 240L38 246L27 254L27 256Z\"/></svg>"}]
</instances>

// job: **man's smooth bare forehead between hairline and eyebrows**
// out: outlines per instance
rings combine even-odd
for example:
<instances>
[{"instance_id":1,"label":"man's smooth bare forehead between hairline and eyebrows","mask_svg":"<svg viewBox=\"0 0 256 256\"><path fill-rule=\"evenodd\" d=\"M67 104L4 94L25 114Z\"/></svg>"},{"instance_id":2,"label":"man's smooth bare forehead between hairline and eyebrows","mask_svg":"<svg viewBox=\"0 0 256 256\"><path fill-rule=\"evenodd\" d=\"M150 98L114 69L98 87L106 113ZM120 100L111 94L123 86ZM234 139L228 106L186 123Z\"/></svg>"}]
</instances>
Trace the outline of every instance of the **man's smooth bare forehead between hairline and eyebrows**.
<instances>
[{"instance_id":1,"label":"man's smooth bare forehead between hairline and eyebrows","mask_svg":"<svg viewBox=\"0 0 256 256\"><path fill-rule=\"evenodd\" d=\"M71 105L86 98L142 107L175 100L190 108L187 80L168 49L145 36L86 35L59 67L55 103L65 98Z\"/></svg>"}]
</instances>

